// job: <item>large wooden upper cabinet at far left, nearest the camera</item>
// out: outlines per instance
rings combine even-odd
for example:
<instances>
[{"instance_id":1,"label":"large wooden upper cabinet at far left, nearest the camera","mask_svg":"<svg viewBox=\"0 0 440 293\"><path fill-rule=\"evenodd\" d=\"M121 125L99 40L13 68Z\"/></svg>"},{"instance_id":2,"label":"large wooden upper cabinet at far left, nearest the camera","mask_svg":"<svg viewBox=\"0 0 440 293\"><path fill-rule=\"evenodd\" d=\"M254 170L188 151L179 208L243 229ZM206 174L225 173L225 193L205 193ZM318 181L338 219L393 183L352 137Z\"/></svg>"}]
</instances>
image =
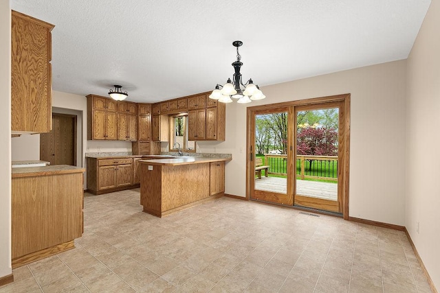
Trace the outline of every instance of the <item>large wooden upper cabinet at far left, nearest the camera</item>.
<instances>
[{"instance_id":1,"label":"large wooden upper cabinet at far left, nearest the camera","mask_svg":"<svg viewBox=\"0 0 440 293\"><path fill-rule=\"evenodd\" d=\"M12 133L50 132L54 25L14 10L11 25Z\"/></svg>"}]
</instances>

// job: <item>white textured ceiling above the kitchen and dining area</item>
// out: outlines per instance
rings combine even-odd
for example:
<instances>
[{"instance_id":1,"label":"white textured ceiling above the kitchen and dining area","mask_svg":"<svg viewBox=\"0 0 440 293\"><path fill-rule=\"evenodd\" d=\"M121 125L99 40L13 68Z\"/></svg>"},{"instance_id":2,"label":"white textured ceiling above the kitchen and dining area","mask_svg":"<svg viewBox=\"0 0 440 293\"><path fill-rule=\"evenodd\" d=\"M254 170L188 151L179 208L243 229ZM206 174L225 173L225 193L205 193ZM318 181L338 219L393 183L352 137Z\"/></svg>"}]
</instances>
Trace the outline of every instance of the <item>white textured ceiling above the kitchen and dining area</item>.
<instances>
[{"instance_id":1,"label":"white textured ceiling above the kitchen and dining area","mask_svg":"<svg viewBox=\"0 0 440 293\"><path fill-rule=\"evenodd\" d=\"M430 0L12 0L52 23L53 89L133 102L260 86L408 57Z\"/></svg>"}]
</instances>

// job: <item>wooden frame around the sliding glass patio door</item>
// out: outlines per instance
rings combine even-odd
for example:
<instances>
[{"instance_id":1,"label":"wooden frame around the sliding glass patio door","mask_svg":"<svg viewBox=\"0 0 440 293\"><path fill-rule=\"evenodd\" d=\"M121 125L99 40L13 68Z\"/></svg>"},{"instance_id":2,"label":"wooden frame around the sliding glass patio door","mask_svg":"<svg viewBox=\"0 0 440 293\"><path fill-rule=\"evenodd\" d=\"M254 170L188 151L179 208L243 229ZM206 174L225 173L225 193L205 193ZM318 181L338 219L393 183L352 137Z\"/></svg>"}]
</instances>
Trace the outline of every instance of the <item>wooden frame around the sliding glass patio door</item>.
<instances>
[{"instance_id":1,"label":"wooden frame around the sliding glass patio door","mask_svg":"<svg viewBox=\"0 0 440 293\"><path fill-rule=\"evenodd\" d=\"M301 99L291 102L281 102L276 104L266 104L260 106L252 106L247 108L247 121L246 121L246 200L250 200L250 193L252 192L252 184L254 184L255 167L254 161L250 159L254 156L255 141L252 141L255 132L254 121L256 111L270 110L276 108L285 107L298 107L308 106L314 104L326 104L332 102L342 102L343 113L340 117L340 133L343 135L343 139L339 141L340 152L338 156L341 162L340 174L338 174L338 180L341 180L341 189L338 193L342 193L342 217L344 220L349 220L349 175L350 175L350 99L351 94L345 93L342 95L331 95L327 97L315 97L310 99ZM293 130L290 130L293 131ZM296 150L296 141L294 142L294 150ZM288 153L290 148L287 148ZM339 164L338 164L339 165ZM339 178L340 177L340 178ZM295 184L295 183L294 183ZM283 205L283 207L287 207ZM301 209L300 207L292 206L292 208Z\"/></svg>"}]
</instances>

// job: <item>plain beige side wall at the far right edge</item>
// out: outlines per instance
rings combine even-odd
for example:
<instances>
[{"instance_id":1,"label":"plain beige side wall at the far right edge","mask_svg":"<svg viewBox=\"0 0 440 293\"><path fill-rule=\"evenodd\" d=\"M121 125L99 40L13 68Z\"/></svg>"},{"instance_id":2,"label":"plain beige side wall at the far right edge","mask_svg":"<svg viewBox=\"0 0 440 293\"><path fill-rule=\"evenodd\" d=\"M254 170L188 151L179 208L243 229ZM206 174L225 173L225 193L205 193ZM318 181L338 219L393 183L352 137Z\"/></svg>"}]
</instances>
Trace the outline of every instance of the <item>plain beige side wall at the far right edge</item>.
<instances>
[{"instance_id":1,"label":"plain beige side wall at the far right edge","mask_svg":"<svg viewBox=\"0 0 440 293\"><path fill-rule=\"evenodd\" d=\"M405 214L406 229L437 289L440 288L439 28L440 1L432 0L408 58Z\"/></svg>"}]
</instances>

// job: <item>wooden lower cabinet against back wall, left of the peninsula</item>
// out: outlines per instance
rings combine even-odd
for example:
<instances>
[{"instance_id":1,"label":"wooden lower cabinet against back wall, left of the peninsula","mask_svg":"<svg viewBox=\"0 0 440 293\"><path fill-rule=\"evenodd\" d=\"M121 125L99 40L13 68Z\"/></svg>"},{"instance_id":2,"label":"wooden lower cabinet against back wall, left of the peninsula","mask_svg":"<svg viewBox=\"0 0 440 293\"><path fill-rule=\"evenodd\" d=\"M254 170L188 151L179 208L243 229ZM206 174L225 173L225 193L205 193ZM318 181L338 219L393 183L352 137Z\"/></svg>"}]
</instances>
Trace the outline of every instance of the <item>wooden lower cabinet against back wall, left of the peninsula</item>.
<instances>
[{"instance_id":1,"label":"wooden lower cabinet against back wall, left of the peninsula","mask_svg":"<svg viewBox=\"0 0 440 293\"><path fill-rule=\"evenodd\" d=\"M91 194L133 188L133 158L87 158L87 189Z\"/></svg>"}]
</instances>

